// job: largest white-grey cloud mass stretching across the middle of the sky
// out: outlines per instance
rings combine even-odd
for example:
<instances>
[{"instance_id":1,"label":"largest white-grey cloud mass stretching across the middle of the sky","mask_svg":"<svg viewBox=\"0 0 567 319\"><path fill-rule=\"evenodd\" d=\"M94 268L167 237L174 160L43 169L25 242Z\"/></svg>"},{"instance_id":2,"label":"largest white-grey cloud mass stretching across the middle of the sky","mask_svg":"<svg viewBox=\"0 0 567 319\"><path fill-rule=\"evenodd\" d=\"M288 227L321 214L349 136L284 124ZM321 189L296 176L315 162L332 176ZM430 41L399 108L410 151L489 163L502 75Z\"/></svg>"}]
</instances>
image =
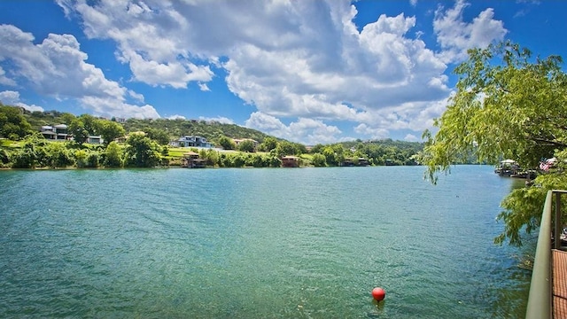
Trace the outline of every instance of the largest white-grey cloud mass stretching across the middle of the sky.
<instances>
[{"instance_id":1,"label":"largest white-grey cloud mass stretching across the middle of the sky","mask_svg":"<svg viewBox=\"0 0 567 319\"><path fill-rule=\"evenodd\" d=\"M446 64L408 36L415 17L381 15L359 32L348 0L58 4L117 43L134 80L207 90L210 66L222 67L237 97L275 117L357 122L449 92Z\"/></svg>"}]
</instances>

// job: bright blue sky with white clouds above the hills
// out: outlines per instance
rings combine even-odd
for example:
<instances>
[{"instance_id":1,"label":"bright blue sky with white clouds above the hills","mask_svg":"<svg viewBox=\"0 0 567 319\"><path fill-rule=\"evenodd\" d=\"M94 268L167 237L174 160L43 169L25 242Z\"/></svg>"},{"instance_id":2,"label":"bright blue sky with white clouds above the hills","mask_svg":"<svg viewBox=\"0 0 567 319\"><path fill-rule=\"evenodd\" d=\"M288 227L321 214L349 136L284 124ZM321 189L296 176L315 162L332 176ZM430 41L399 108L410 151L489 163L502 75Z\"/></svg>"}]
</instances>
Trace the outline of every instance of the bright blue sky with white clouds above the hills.
<instances>
[{"instance_id":1,"label":"bright blue sky with white clouds above the hills","mask_svg":"<svg viewBox=\"0 0 567 319\"><path fill-rule=\"evenodd\" d=\"M0 1L0 101L221 121L303 144L419 141L468 49L509 39L567 58L566 10L558 0Z\"/></svg>"}]
</instances>

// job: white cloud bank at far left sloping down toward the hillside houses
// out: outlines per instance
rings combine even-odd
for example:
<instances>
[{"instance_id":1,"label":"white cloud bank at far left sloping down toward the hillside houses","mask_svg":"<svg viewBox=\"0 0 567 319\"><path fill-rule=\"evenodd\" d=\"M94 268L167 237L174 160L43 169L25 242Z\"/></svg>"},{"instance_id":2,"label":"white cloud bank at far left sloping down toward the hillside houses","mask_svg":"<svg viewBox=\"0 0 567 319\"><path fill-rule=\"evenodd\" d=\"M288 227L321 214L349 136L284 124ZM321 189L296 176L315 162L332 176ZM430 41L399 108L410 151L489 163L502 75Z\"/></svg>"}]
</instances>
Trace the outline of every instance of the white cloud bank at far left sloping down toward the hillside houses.
<instances>
[{"instance_id":1,"label":"white cloud bank at far left sloping down toward the hillside houses","mask_svg":"<svg viewBox=\"0 0 567 319\"><path fill-rule=\"evenodd\" d=\"M128 104L128 96L144 98L106 79L101 69L85 62L88 56L74 35L50 34L38 44L34 40L18 27L0 26L0 61L7 61L4 67L10 67L13 82L28 84L46 96L77 98L99 115L159 117L151 105Z\"/></svg>"}]
</instances>

